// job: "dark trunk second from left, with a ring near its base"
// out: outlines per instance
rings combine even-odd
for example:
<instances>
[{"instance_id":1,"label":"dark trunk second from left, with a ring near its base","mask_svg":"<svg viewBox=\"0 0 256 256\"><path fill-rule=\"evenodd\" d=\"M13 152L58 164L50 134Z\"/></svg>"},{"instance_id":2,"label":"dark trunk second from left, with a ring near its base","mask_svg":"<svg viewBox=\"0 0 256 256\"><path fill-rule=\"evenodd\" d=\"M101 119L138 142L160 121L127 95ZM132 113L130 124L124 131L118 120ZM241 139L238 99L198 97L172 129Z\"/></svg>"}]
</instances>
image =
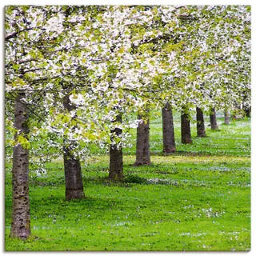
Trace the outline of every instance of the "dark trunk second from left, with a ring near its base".
<instances>
[{"instance_id":1,"label":"dark trunk second from left, with a ring near its base","mask_svg":"<svg viewBox=\"0 0 256 256\"><path fill-rule=\"evenodd\" d=\"M64 109L69 112L75 109L75 106L70 102L68 94L63 98L63 106ZM73 118L75 118L75 116ZM83 192L81 165L79 159L74 157L73 153L73 150L76 147L76 142L64 138L63 144L66 200L69 201L71 199L84 198L85 194Z\"/></svg>"}]
</instances>

